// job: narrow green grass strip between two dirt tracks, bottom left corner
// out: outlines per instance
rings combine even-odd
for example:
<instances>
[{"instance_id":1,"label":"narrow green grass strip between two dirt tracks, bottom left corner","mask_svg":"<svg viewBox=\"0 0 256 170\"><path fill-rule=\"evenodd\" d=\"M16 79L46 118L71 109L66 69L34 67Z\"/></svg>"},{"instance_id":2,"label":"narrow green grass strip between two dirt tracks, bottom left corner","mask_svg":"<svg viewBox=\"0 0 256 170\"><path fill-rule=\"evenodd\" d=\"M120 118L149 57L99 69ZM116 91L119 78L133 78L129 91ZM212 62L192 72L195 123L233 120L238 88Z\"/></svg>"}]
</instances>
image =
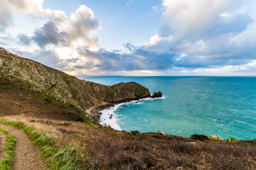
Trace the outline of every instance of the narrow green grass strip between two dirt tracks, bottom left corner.
<instances>
[{"instance_id":1,"label":"narrow green grass strip between two dirt tracks, bottom left corner","mask_svg":"<svg viewBox=\"0 0 256 170\"><path fill-rule=\"evenodd\" d=\"M13 160L14 146L16 144L16 137L13 134L8 133L5 128L0 128L0 131L3 132L6 136L4 158L0 160L0 170L10 170L10 165Z\"/></svg>"}]
</instances>

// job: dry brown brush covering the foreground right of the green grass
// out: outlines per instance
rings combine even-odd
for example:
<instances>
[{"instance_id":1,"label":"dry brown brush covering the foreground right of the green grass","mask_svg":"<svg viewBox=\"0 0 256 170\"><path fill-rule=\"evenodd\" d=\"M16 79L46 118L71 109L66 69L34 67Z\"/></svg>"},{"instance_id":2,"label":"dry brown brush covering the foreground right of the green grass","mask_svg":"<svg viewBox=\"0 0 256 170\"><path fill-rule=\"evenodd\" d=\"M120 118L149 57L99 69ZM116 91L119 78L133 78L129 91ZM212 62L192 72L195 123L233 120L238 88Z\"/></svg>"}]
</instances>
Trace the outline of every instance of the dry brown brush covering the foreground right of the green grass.
<instances>
[{"instance_id":1,"label":"dry brown brush covering the foreground right of the green grass","mask_svg":"<svg viewBox=\"0 0 256 170\"><path fill-rule=\"evenodd\" d=\"M158 133L123 132L100 125L7 116L59 138L58 147L76 145L83 153L81 169L115 170L253 170L256 140L205 142ZM193 143L195 142L195 143Z\"/></svg>"}]
</instances>

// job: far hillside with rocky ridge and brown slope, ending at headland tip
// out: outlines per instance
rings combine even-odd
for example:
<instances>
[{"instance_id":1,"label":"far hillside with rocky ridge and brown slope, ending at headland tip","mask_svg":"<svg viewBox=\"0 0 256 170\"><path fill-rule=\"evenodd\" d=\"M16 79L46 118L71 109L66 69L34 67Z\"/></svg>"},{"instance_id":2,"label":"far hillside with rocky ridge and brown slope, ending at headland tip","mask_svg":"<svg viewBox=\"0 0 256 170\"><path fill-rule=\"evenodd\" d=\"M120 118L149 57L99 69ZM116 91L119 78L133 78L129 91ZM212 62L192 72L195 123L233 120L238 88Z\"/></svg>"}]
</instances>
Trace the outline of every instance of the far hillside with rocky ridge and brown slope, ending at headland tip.
<instances>
[{"instance_id":1,"label":"far hillside with rocky ridge and brown slope, ending at headland tip","mask_svg":"<svg viewBox=\"0 0 256 170\"><path fill-rule=\"evenodd\" d=\"M149 90L136 82L121 82L106 86L80 80L39 62L9 53L3 48L0 48L0 88L4 89L1 97L5 98L5 101L0 101L0 106L5 112L2 110L0 114L6 115L7 112L10 112L9 107L5 108L6 103L11 106L11 109L14 109L13 112L22 110L23 113L29 113L31 109L28 107L32 105L34 107L32 110L36 111L35 103L38 102L37 105L45 105L46 110L57 112L55 114L56 118L59 117L59 110L64 115L61 115L61 117L66 118L70 115L65 115L65 112L72 112L73 120L81 119L79 116L74 118L76 112L86 115L85 111L92 106L97 107L107 103L150 96ZM24 100L22 100L24 97L30 102L24 103ZM13 105L13 102L16 102L16 104ZM52 103L54 106L49 106L46 103ZM24 105L26 105L26 108L23 107ZM72 110L69 110L69 108L72 108ZM27 111L24 112L24 110ZM41 112L40 110L37 111ZM44 115L47 115L47 113L41 114L41 116Z\"/></svg>"}]
</instances>

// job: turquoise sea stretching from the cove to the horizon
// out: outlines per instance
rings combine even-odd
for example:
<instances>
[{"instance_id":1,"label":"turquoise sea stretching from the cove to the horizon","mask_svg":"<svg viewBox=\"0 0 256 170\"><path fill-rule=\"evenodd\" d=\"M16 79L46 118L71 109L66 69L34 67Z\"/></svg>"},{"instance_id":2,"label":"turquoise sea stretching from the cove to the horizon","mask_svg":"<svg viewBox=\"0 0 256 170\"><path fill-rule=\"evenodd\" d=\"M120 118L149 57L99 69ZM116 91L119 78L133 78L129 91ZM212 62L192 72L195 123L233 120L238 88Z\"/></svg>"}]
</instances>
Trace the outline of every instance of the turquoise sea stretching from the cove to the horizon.
<instances>
[{"instance_id":1,"label":"turquoise sea stretching from the cove to the horizon","mask_svg":"<svg viewBox=\"0 0 256 170\"><path fill-rule=\"evenodd\" d=\"M189 137L256 138L256 77L79 77L104 85L135 81L165 99L115 107L121 130ZM107 121L107 120L106 120Z\"/></svg>"}]
</instances>

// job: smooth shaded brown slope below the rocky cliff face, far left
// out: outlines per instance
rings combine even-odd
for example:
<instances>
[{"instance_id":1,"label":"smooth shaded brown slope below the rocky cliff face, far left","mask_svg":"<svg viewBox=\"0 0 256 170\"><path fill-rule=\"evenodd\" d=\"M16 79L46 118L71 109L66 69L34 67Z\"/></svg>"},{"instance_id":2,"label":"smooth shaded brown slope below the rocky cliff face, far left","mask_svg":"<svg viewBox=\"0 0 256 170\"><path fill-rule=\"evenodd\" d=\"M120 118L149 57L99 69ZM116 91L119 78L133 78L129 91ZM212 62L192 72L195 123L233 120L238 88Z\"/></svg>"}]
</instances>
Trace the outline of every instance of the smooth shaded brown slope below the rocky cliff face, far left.
<instances>
[{"instance_id":1,"label":"smooth shaded brown slope below the rocky cliff face, far left","mask_svg":"<svg viewBox=\"0 0 256 170\"><path fill-rule=\"evenodd\" d=\"M40 93L10 85L0 90L1 115L22 114L53 120L80 120L79 112L63 104L54 105L51 99L44 98Z\"/></svg>"}]
</instances>

